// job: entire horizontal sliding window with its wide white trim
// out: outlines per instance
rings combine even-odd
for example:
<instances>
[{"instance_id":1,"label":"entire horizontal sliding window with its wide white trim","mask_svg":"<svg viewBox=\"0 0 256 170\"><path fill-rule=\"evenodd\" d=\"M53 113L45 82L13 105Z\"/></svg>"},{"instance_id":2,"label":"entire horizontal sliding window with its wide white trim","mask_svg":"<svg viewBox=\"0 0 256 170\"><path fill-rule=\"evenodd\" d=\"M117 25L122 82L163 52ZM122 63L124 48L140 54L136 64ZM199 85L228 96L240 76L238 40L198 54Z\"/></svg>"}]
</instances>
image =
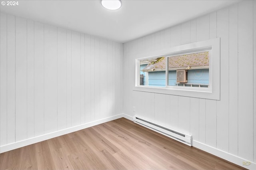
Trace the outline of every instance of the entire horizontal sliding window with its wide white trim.
<instances>
[{"instance_id":1,"label":"entire horizontal sliding window with its wide white trim","mask_svg":"<svg viewBox=\"0 0 256 170\"><path fill-rule=\"evenodd\" d=\"M136 91L220 98L220 39L165 49L136 59Z\"/></svg>"}]
</instances>

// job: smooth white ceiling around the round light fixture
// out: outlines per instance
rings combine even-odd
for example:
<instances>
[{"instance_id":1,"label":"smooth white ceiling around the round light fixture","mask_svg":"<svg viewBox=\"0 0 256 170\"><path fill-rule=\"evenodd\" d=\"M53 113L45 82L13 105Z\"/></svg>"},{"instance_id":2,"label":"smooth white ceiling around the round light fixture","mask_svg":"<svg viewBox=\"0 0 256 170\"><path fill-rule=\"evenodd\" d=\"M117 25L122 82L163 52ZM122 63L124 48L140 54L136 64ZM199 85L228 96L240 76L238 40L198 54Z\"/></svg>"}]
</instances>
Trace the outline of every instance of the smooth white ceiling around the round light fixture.
<instances>
[{"instance_id":1,"label":"smooth white ceiling around the round light fixture","mask_svg":"<svg viewBox=\"0 0 256 170\"><path fill-rule=\"evenodd\" d=\"M18 6L0 5L0 10L124 43L239 1L122 0L122 7L111 11L100 0L18 0Z\"/></svg>"}]
</instances>

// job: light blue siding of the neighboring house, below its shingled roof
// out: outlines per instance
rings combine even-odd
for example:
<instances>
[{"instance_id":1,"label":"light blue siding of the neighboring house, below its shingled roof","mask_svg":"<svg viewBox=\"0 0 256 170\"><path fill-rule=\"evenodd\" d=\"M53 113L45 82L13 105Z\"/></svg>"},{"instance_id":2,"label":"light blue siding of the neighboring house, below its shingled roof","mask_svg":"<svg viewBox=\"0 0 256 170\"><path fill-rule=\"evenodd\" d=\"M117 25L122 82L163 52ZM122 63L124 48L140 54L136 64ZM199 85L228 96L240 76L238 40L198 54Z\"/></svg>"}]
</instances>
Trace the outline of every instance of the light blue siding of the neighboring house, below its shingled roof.
<instances>
[{"instance_id":1,"label":"light blue siding of the neighboring house, below its shingled roof","mask_svg":"<svg viewBox=\"0 0 256 170\"><path fill-rule=\"evenodd\" d=\"M209 84L209 69L188 70L188 83ZM148 72L149 86L165 86L165 71ZM176 70L168 72L168 85L176 86Z\"/></svg>"}]
</instances>

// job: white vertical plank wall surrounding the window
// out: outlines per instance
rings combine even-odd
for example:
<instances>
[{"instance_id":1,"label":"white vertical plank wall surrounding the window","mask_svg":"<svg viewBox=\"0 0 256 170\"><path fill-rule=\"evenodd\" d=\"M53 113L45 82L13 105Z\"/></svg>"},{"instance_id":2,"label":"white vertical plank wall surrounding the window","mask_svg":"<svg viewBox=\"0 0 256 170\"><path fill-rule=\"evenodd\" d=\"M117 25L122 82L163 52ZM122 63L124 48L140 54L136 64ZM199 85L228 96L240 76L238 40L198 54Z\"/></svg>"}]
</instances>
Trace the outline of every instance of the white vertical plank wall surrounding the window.
<instances>
[{"instance_id":1,"label":"white vertical plank wall surrounding the window","mask_svg":"<svg viewBox=\"0 0 256 170\"><path fill-rule=\"evenodd\" d=\"M255 2L243 1L124 43L124 113L191 134L194 141L255 162L255 10ZM219 101L132 90L135 56L212 38L221 41Z\"/></svg>"}]
</instances>

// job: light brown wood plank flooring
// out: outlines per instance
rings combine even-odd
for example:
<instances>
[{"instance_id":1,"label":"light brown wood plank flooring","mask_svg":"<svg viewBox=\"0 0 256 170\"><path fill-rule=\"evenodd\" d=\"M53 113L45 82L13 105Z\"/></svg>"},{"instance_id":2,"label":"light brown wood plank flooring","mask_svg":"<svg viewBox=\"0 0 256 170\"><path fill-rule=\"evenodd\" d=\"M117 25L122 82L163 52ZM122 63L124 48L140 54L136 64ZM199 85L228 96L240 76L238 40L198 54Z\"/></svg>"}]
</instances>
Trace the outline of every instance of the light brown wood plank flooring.
<instances>
[{"instance_id":1,"label":"light brown wood plank flooring","mask_svg":"<svg viewBox=\"0 0 256 170\"><path fill-rule=\"evenodd\" d=\"M243 169L121 118L0 154L0 170Z\"/></svg>"}]
</instances>

